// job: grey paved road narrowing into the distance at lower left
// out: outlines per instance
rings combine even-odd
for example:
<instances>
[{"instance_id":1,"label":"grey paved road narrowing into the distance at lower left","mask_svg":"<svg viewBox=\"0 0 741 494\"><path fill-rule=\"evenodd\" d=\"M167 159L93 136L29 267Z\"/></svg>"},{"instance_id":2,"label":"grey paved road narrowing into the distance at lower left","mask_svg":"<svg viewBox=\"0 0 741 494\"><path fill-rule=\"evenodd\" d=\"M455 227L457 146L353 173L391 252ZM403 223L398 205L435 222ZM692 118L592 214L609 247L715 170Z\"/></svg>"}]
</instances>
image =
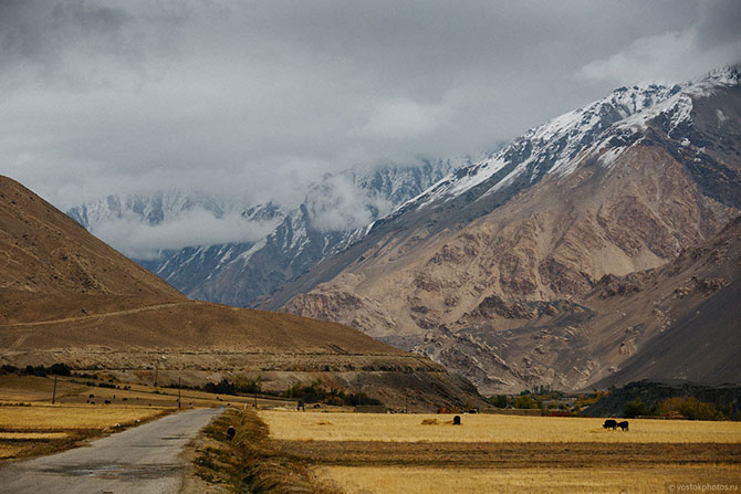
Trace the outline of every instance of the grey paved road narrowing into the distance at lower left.
<instances>
[{"instance_id":1,"label":"grey paved road narrowing into the distance at lower left","mask_svg":"<svg viewBox=\"0 0 741 494\"><path fill-rule=\"evenodd\" d=\"M167 493L182 483L182 448L221 410L199 409L0 469L0 493Z\"/></svg>"}]
</instances>

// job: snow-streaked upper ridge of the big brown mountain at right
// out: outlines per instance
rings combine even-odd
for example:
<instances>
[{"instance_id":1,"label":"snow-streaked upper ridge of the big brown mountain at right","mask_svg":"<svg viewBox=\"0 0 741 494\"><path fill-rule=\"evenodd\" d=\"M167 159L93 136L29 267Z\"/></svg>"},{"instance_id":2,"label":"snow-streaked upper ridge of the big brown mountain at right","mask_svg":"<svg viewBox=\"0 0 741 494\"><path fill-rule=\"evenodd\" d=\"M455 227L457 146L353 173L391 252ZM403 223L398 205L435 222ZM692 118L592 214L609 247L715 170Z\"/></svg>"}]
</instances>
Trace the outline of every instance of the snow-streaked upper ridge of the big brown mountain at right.
<instances>
[{"instance_id":1,"label":"snow-streaked upper ridge of the big brown mountain at right","mask_svg":"<svg viewBox=\"0 0 741 494\"><path fill-rule=\"evenodd\" d=\"M740 81L741 64L712 71L682 85L649 83L619 87L602 99L529 129L498 154L450 174L395 212L413 203L420 209L440 199L451 200L487 181L505 166L513 166L513 170L480 198L502 189L528 170L531 183L543 171L542 167L547 167L546 174L566 176L584 157L602 151L615 133L628 137L644 130L649 120L664 114L668 117L667 132L671 134L691 118L692 97L707 96L719 86L738 86ZM606 151L599 161L612 167L635 144L634 140L629 146Z\"/></svg>"}]
</instances>

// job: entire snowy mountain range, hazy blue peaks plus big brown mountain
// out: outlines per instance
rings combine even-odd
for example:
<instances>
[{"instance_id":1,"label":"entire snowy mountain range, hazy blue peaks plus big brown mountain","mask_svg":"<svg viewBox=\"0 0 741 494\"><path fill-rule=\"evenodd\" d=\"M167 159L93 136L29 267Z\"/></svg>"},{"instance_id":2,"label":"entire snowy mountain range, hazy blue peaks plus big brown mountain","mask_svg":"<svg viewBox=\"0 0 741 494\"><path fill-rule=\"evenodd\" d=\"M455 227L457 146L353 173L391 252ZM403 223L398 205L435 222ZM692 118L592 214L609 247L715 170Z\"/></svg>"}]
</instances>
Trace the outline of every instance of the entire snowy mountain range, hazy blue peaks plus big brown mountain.
<instances>
[{"instance_id":1,"label":"entire snowy mountain range, hazy blue peaks plus big brown mountain","mask_svg":"<svg viewBox=\"0 0 741 494\"><path fill-rule=\"evenodd\" d=\"M196 298L351 325L486 393L741 381L740 80L620 87L484 159L327 176L290 210L163 196L70 214L92 232L194 209L267 224L140 262Z\"/></svg>"}]
</instances>

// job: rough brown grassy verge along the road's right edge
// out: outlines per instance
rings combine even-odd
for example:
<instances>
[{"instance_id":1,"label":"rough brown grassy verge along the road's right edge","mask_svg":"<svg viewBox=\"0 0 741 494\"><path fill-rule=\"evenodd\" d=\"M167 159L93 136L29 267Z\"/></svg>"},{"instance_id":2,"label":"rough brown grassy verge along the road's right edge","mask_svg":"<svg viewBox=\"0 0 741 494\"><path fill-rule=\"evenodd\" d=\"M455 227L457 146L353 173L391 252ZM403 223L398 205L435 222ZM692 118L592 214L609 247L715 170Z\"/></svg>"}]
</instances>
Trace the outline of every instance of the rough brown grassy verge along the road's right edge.
<instances>
[{"instance_id":1,"label":"rough brown grassy verge along the road's right edge","mask_svg":"<svg viewBox=\"0 0 741 494\"><path fill-rule=\"evenodd\" d=\"M232 440L227 437L229 425L237 430ZM197 451L196 475L206 482L229 485L237 493L338 493L322 484L306 463L278 451L268 425L251 410L229 410L203 433L211 441Z\"/></svg>"}]
</instances>

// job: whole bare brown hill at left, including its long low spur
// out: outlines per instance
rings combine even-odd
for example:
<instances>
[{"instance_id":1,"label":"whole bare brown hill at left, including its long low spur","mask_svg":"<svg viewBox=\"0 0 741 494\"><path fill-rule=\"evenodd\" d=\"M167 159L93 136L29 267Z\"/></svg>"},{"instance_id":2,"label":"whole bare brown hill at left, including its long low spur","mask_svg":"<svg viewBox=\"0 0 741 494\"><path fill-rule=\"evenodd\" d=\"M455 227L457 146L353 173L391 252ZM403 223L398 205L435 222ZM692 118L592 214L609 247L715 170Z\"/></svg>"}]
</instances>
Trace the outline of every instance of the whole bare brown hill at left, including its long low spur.
<instances>
[{"instance_id":1,"label":"whole bare brown hill at left, including its long low spur","mask_svg":"<svg viewBox=\"0 0 741 494\"><path fill-rule=\"evenodd\" d=\"M478 403L441 366L340 324L186 298L0 177L0 362L65 362L127 380L237 374L284 390L323 379L415 409Z\"/></svg>"}]
</instances>

